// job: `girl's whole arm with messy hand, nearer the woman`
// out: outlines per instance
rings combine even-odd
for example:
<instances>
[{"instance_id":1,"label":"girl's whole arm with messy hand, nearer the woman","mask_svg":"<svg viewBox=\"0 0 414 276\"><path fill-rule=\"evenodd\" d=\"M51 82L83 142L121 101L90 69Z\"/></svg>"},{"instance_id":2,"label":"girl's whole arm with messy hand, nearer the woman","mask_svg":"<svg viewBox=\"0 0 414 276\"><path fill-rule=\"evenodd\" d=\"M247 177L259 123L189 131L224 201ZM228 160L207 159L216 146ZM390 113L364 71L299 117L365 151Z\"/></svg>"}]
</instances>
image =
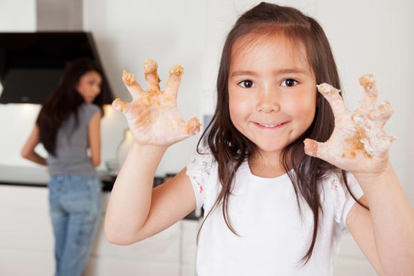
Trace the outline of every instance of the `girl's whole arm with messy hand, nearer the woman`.
<instances>
[{"instance_id":1,"label":"girl's whole arm with messy hand, nearer the woman","mask_svg":"<svg viewBox=\"0 0 414 276\"><path fill-rule=\"evenodd\" d=\"M185 122L177 110L177 90L183 69L170 70L166 90L159 90L157 63L144 63L147 91L124 71L132 102L116 99L134 143L119 172L106 210L105 234L115 244L132 244L168 228L195 209L195 195L186 170L152 189L155 171L168 146L199 132L196 118Z\"/></svg>"}]
</instances>

